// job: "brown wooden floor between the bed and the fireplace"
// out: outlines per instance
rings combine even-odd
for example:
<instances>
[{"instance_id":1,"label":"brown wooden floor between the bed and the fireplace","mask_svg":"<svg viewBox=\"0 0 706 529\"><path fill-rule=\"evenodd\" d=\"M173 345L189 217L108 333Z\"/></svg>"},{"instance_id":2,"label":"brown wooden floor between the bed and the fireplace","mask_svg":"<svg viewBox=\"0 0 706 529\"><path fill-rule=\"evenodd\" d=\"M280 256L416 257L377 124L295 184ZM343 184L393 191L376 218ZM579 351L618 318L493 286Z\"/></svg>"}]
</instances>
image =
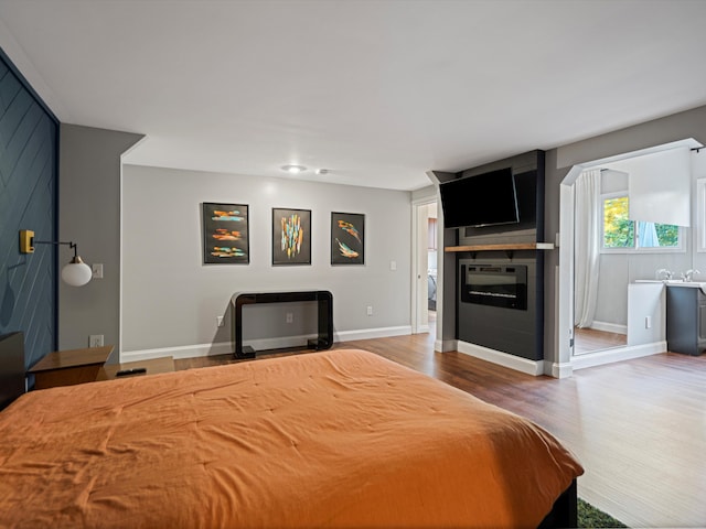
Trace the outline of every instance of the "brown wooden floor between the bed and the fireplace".
<instances>
[{"instance_id":1,"label":"brown wooden floor between the bed and the fireplace","mask_svg":"<svg viewBox=\"0 0 706 529\"><path fill-rule=\"evenodd\" d=\"M579 496L630 527L706 527L706 355L665 353L558 380L435 353L429 334L334 347L371 350L535 421L584 464Z\"/></svg>"}]
</instances>

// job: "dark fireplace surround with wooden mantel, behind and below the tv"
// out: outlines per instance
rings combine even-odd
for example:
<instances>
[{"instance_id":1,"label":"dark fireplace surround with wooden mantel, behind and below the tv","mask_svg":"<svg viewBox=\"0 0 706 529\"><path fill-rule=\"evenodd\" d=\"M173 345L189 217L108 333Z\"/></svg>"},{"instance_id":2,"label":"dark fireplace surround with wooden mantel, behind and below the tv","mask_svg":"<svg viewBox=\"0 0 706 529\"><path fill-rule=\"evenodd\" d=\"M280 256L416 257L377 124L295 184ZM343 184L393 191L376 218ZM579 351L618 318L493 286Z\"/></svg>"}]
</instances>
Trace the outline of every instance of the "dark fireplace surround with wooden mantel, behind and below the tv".
<instances>
[{"instance_id":1,"label":"dark fireplace surround with wooden mantel, behind and below the tv","mask_svg":"<svg viewBox=\"0 0 706 529\"><path fill-rule=\"evenodd\" d=\"M499 168L512 168L520 222L454 229L459 246L445 253L456 260L456 338L537 363L544 358L545 153L526 152L447 179Z\"/></svg>"}]
</instances>

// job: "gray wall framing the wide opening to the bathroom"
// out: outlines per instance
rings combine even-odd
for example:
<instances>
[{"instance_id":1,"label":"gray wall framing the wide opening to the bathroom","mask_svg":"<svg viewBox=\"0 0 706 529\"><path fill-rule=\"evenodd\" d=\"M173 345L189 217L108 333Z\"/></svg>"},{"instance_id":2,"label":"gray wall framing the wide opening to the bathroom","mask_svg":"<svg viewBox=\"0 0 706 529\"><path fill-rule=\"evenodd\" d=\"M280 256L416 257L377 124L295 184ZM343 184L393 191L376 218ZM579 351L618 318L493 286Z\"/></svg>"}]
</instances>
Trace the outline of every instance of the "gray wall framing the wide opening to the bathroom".
<instances>
[{"instance_id":1,"label":"gray wall framing the wide opening to the bathroom","mask_svg":"<svg viewBox=\"0 0 706 529\"><path fill-rule=\"evenodd\" d=\"M546 191L545 191L545 235L547 240L554 240L554 234L559 233L559 188L563 180L574 164L587 163L612 155L646 149L654 145L670 143L694 138L706 142L706 106L698 107L684 112L675 114L664 118L648 121L625 129L621 129L607 134L589 138L587 140L569 143L558 149L547 151L546 165ZM702 155L706 153L702 152ZM693 264L699 266L703 257L694 259ZM545 288L545 333L546 359L559 361L556 342L552 343L552 336L559 336L557 328L556 305L550 302L555 299L555 279L559 264L558 250L546 253ZM566 266L566 263L563 263ZM706 270L704 270L706 271ZM564 333L561 333L564 334ZM568 339L568 332L567 332ZM566 361L566 359L564 359Z\"/></svg>"}]
</instances>

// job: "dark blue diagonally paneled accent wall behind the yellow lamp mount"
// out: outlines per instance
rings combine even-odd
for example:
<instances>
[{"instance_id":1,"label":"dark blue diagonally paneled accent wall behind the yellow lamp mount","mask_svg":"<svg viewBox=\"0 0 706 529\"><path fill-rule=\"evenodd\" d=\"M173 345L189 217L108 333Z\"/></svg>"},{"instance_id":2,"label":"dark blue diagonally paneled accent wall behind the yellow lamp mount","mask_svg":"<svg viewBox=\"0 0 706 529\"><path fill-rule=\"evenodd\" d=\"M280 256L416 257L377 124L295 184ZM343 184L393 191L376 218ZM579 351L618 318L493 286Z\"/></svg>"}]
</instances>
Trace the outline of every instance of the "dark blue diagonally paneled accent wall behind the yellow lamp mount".
<instances>
[{"instance_id":1,"label":"dark blue diagonally paneled accent wall behind the yellow lamp mount","mask_svg":"<svg viewBox=\"0 0 706 529\"><path fill-rule=\"evenodd\" d=\"M22 255L19 230L56 240L57 131L0 53L0 334L24 332L25 367L56 348L56 247Z\"/></svg>"}]
</instances>

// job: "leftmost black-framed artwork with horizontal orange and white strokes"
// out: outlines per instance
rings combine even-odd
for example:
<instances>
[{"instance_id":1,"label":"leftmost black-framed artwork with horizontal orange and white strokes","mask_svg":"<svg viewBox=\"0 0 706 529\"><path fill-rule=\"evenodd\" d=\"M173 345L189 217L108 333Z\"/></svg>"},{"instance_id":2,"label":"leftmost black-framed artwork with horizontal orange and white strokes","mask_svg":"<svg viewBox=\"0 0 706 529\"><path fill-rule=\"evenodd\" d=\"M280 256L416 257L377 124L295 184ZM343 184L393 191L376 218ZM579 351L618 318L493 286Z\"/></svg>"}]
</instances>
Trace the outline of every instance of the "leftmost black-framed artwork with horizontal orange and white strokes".
<instances>
[{"instance_id":1,"label":"leftmost black-framed artwork with horizontal orange and white strokes","mask_svg":"<svg viewBox=\"0 0 706 529\"><path fill-rule=\"evenodd\" d=\"M246 204L202 204L205 264L250 262L248 214L249 208Z\"/></svg>"}]
</instances>

